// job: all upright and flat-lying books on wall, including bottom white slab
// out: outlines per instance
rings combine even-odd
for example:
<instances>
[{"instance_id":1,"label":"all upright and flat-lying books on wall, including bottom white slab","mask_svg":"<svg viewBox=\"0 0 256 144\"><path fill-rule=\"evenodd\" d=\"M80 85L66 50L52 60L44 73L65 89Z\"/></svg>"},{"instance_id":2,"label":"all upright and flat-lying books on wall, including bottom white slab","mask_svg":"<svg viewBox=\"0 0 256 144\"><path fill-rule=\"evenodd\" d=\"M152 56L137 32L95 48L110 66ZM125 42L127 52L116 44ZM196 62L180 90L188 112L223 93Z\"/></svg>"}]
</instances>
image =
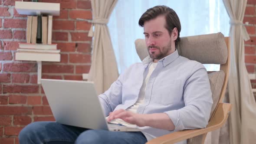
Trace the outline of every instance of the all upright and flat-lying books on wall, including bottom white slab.
<instances>
[{"instance_id":1,"label":"all upright and flat-lying books on wall, including bottom white slab","mask_svg":"<svg viewBox=\"0 0 256 144\"><path fill-rule=\"evenodd\" d=\"M26 43L19 43L17 60L59 62L60 50L52 44L53 16L28 16Z\"/></svg>"}]
</instances>

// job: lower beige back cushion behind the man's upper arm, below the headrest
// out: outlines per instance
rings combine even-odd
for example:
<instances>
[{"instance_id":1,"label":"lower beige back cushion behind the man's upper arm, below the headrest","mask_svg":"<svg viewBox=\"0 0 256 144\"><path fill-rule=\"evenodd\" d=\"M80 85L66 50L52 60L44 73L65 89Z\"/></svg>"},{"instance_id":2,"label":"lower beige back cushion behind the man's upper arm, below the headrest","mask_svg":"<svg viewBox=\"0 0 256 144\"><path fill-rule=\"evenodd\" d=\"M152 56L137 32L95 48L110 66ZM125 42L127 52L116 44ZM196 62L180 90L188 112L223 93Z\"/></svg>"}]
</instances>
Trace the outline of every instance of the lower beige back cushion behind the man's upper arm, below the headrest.
<instances>
[{"instance_id":1,"label":"lower beige back cushion behind the man's upper arm, below the headrest","mask_svg":"<svg viewBox=\"0 0 256 144\"><path fill-rule=\"evenodd\" d=\"M210 117L212 117L213 112L220 98L220 92L224 82L225 73L222 70L217 72L211 72L208 74L208 77L210 81L210 87L211 87L212 98L213 98L213 106L211 108L211 113L210 113Z\"/></svg>"}]
</instances>

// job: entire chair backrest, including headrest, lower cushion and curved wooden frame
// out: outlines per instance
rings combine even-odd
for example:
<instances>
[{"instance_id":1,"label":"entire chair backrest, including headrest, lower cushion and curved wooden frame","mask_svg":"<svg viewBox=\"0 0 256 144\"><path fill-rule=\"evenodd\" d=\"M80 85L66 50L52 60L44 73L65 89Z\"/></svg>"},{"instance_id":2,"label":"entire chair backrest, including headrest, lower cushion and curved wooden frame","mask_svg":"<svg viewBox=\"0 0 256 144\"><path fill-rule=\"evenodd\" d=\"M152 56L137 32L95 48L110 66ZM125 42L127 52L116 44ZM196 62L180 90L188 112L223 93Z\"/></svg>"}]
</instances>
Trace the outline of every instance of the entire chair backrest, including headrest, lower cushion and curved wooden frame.
<instances>
[{"instance_id":1,"label":"entire chair backrest, including headrest, lower cushion and curved wooden frame","mask_svg":"<svg viewBox=\"0 0 256 144\"><path fill-rule=\"evenodd\" d=\"M144 39L137 39L135 47L141 60L148 56ZM181 37L177 50L181 56L196 60L202 64L220 64L220 71L208 72L210 87L213 93L213 106L210 113L211 120L217 105L222 102L226 90L230 65L229 38L225 38L222 33ZM203 144L205 137L206 134L190 138L187 140L187 144Z\"/></svg>"}]
</instances>

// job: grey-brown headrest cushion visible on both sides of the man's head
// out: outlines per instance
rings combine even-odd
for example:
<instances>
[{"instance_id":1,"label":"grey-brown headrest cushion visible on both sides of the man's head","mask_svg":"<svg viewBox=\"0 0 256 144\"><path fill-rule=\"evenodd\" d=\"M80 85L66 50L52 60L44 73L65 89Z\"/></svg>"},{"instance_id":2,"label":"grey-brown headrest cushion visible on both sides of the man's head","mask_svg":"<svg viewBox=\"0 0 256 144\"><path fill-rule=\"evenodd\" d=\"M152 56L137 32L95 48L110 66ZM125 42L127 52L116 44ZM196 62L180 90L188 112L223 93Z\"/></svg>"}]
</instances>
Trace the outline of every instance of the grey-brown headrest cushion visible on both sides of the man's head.
<instances>
[{"instance_id":1,"label":"grey-brown headrest cushion visible on both sides of the man's head","mask_svg":"<svg viewBox=\"0 0 256 144\"><path fill-rule=\"evenodd\" d=\"M141 60L148 56L144 39L135 40L135 48ZM181 37L177 46L180 56L203 64L224 64L227 48L222 33Z\"/></svg>"}]
</instances>

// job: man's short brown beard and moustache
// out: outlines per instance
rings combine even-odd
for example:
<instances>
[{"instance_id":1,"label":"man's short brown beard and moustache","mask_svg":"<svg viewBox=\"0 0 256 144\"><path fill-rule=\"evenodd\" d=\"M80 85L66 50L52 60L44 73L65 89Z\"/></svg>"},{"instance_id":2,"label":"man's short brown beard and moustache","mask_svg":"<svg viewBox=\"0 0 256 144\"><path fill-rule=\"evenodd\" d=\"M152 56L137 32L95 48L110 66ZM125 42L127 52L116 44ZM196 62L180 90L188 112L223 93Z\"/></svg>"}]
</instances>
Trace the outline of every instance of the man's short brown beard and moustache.
<instances>
[{"instance_id":1,"label":"man's short brown beard and moustache","mask_svg":"<svg viewBox=\"0 0 256 144\"><path fill-rule=\"evenodd\" d=\"M149 49L158 49L158 52L149 52ZM151 57L151 59L163 59L164 57L169 55L169 52L171 51L171 41L167 44L167 46L163 46L160 48L159 46L148 46L148 54Z\"/></svg>"}]
</instances>

